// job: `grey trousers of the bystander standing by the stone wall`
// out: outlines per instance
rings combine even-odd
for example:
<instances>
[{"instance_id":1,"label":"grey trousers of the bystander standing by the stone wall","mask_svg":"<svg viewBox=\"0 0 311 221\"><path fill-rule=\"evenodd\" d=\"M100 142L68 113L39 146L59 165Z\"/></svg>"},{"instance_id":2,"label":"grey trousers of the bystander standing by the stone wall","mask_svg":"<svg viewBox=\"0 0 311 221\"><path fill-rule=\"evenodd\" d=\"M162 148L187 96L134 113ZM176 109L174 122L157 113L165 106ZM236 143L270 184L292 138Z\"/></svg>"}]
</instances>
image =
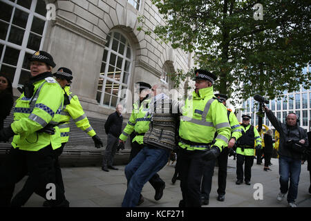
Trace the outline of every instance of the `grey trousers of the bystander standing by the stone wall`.
<instances>
[{"instance_id":1,"label":"grey trousers of the bystander standing by the stone wall","mask_svg":"<svg viewBox=\"0 0 311 221\"><path fill-rule=\"evenodd\" d=\"M107 168L107 166L113 166L113 157L117 151L118 141L119 137L115 137L111 135L111 133L108 134L106 151L102 159L102 167Z\"/></svg>"}]
</instances>

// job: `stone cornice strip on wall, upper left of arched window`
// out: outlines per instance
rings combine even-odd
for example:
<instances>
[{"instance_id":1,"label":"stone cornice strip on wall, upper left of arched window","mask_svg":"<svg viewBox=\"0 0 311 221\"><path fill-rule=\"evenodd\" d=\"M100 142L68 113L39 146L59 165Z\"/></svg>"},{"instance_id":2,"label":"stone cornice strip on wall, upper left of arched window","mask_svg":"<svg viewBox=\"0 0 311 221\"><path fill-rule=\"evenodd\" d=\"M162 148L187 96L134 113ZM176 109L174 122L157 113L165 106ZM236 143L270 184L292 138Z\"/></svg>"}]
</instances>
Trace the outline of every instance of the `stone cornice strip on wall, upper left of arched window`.
<instances>
[{"instance_id":1,"label":"stone cornice strip on wall, upper left of arched window","mask_svg":"<svg viewBox=\"0 0 311 221\"><path fill-rule=\"evenodd\" d=\"M71 21L68 21L67 19L57 16L56 19L53 21L54 26L60 26L62 28L65 28L67 30L70 30L70 32L75 32L77 35L80 35L90 41L93 41L95 44L99 44L100 46L103 46L106 44L106 40L98 37L97 35L94 35L92 32L77 26L75 23L72 23Z\"/></svg>"}]
</instances>

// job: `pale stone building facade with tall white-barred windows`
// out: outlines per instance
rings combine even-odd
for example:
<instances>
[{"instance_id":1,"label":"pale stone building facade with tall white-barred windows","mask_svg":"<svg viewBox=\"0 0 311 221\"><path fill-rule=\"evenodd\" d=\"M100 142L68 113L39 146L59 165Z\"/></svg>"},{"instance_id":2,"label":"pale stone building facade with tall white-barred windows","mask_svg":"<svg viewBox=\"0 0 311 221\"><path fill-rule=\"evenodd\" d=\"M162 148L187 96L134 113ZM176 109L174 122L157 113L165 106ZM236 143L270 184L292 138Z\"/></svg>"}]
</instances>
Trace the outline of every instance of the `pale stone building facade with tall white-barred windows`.
<instances>
[{"instance_id":1,"label":"pale stone building facade with tall white-barred windows","mask_svg":"<svg viewBox=\"0 0 311 221\"><path fill-rule=\"evenodd\" d=\"M118 102L131 109L134 84L160 81L189 70L191 55L157 41L163 24L151 0L0 0L0 73L17 87L30 76L28 57L37 50L53 55L57 68L73 71L71 90L88 117L106 119ZM144 23L138 22L144 17ZM124 114L124 122L129 109ZM127 118L127 119L126 119Z\"/></svg>"}]
</instances>

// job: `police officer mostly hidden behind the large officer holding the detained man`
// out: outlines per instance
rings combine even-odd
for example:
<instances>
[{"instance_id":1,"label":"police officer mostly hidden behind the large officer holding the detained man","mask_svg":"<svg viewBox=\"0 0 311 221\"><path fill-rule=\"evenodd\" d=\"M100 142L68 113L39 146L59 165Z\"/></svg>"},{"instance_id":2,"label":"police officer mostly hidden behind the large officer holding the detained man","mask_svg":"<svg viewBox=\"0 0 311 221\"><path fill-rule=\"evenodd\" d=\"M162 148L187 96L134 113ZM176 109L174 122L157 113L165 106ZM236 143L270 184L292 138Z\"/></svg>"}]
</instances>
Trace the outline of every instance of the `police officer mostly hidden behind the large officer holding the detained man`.
<instances>
[{"instance_id":1,"label":"police officer mostly hidden behind the large officer holding the detained man","mask_svg":"<svg viewBox=\"0 0 311 221\"><path fill-rule=\"evenodd\" d=\"M228 99L227 95L223 94L216 94L220 102L223 102L223 105L226 106L226 100ZM231 138L228 143L228 147L223 148L223 151L217 157L218 161L218 201L225 200L225 189L226 189L226 179L227 179L227 164L228 164L228 155L229 150L232 150L236 140L242 136L241 133L241 126L238 123L238 119L236 119L236 115L232 112L231 109L227 108L227 117L229 119L229 124L231 126ZM215 134L216 135L216 134ZM202 204L208 205L209 204L209 193L211 193L211 180L214 174L214 167L216 161L209 161L207 167L204 171L204 175L202 178L202 186L201 186L201 193L202 193Z\"/></svg>"}]
</instances>

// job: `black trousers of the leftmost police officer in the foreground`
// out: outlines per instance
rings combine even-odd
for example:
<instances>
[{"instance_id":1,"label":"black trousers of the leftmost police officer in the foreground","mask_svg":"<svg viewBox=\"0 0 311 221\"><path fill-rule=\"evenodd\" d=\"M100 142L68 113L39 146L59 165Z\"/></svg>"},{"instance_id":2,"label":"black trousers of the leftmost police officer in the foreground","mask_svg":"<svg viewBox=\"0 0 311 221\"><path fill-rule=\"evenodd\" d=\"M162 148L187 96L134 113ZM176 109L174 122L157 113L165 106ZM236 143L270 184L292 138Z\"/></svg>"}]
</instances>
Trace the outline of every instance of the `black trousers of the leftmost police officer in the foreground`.
<instances>
[{"instance_id":1,"label":"black trousers of the leftmost police officer in the foreground","mask_svg":"<svg viewBox=\"0 0 311 221\"><path fill-rule=\"evenodd\" d=\"M64 192L55 182L55 153L52 146L46 146L39 151L21 151L11 148L10 153L0 167L0 206L22 206L32 193L37 193L47 199L47 184L55 184L55 200L50 202L59 204L64 198ZM28 173L23 189L15 200L11 198L15 184Z\"/></svg>"}]
</instances>

